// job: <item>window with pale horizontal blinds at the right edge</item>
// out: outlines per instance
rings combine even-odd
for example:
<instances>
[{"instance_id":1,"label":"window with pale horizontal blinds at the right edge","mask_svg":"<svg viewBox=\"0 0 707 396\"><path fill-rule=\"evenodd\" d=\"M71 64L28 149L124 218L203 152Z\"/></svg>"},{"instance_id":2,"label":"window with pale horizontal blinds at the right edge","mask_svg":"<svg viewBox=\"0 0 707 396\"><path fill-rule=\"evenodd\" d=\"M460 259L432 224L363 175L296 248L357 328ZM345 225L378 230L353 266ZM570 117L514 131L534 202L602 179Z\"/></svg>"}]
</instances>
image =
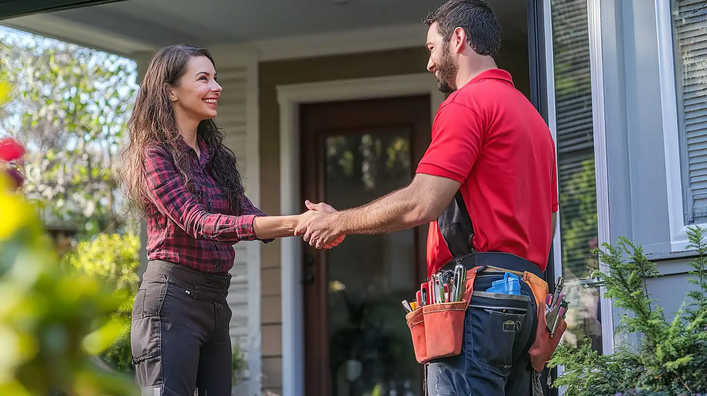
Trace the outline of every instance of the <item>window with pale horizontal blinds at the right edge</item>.
<instances>
[{"instance_id":1,"label":"window with pale horizontal blinds at the right edge","mask_svg":"<svg viewBox=\"0 0 707 396\"><path fill-rule=\"evenodd\" d=\"M671 6L683 221L707 223L707 1Z\"/></svg>"}]
</instances>

